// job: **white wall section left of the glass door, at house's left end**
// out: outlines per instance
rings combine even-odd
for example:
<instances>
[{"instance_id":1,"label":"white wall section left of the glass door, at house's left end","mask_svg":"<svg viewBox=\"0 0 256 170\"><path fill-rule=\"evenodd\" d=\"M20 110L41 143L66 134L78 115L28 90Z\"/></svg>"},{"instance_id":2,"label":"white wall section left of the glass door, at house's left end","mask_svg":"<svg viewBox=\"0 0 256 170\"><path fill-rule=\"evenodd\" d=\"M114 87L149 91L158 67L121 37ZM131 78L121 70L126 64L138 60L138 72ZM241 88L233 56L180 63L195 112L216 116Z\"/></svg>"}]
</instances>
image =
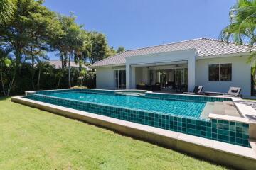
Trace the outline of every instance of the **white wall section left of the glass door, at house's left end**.
<instances>
[{"instance_id":1,"label":"white wall section left of the glass door, at house's left end","mask_svg":"<svg viewBox=\"0 0 256 170\"><path fill-rule=\"evenodd\" d=\"M96 88L114 89L114 69L112 67L97 68Z\"/></svg>"}]
</instances>

